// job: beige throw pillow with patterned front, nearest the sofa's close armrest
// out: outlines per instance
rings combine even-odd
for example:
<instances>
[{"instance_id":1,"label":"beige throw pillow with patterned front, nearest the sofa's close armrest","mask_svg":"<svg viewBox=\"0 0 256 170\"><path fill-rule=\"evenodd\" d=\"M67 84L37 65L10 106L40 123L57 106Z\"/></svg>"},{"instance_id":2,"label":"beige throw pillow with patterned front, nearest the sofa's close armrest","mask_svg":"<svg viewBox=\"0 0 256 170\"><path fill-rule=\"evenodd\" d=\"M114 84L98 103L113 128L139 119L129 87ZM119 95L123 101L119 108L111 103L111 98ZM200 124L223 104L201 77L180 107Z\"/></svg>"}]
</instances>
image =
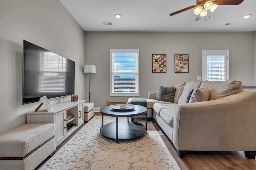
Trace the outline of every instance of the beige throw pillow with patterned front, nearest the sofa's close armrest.
<instances>
[{"instance_id":1,"label":"beige throw pillow with patterned front, nearest the sofa's close armrest","mask_svg":"<svg viewBox=\"0 0 256 170\"><path fill-rule=\"evenodd\" d=\"M188 103L194 102L203 102L209 100L209 90L208 88L196 88L191 94L190 100Z\"/></svg>"}]
</instances>

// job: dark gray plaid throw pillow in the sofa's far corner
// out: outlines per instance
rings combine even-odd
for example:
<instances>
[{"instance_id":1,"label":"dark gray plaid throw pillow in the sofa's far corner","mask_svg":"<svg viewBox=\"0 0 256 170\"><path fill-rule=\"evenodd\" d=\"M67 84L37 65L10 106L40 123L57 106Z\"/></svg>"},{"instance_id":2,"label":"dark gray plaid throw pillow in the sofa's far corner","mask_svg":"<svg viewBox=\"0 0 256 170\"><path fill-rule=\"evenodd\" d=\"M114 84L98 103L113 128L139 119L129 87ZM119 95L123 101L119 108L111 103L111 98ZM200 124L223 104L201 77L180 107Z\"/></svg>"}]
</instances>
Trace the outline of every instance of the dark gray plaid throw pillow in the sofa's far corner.
<instances>
[{"instance_id":1,"label":"dark gray plaid throw pillow in the sofa's far corner","mask_svg":"<svg viewBox=\"0 0 256 170\"><path fill-rule=\"evenodd\" d=\"M175 87L163 87L159 86L158 98L157 100L163 102L171 102L174 103L174 94L176 88Z\"/></svg>"}]
</instances>

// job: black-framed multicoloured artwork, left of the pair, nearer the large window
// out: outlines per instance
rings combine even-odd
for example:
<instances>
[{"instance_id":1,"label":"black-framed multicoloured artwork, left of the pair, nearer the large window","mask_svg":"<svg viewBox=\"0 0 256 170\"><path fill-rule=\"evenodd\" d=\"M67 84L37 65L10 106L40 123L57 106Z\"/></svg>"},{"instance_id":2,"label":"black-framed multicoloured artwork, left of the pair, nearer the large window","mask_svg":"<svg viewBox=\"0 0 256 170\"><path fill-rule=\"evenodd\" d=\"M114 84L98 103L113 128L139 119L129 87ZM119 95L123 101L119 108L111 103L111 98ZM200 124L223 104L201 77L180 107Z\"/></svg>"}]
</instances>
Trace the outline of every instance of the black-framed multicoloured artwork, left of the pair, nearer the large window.
<instances>
[{"instance_id":1,"label":"black-framed multicoloured artwork, left of the pair, nearer the large window","mask_svg":"<svg viewBox=\"0 0 256 170\"><path fill-rule=\"evenodd\" d=\"M152 54L152 72L166 72L166 54Z\"/></svg>"}]
</instances>

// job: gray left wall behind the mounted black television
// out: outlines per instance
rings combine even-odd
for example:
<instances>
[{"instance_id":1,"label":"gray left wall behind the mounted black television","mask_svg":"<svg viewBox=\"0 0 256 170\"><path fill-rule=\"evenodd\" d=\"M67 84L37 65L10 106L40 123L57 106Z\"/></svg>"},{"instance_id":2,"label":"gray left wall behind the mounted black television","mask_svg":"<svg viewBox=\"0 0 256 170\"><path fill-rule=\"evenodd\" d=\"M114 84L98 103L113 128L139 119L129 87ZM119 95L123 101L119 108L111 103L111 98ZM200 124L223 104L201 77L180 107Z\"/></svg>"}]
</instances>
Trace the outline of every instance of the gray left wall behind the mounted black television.
<instances>
[{"instance_id":1,"label":"gray left wall behind the mounted black television","mask_svg":"<svg viewBox=\"0 0 256 170\"><path fill-rule=\"evenodd\" d=\"M79 100L84 92L84 31L60 1L1 0L0 133L25 124L25 113L40 104L22 105L22 39L75 61ZM62 101L50 100L52 104Z\"/></svg>"}]
</instances>

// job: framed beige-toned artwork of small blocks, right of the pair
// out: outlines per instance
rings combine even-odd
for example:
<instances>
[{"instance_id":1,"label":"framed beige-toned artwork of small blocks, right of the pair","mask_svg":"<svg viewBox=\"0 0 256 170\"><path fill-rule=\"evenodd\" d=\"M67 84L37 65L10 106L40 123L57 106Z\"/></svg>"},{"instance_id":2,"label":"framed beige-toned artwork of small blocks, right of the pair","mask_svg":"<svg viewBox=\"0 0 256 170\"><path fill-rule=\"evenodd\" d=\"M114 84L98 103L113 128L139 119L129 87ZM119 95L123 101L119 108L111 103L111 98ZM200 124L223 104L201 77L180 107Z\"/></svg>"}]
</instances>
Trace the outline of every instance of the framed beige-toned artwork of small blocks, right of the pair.
<instances>
[{"instance_id":1,"label":"framed beige-toned artwork of small blocks, right of the pair","mask_svg":"<svg viewBox=\"0 0 256 170\"><path fill-rule=\"evenodd\" d=\"M188 54L176 54L175 73L188 72Z\"/></svg>"}]
</instances>

